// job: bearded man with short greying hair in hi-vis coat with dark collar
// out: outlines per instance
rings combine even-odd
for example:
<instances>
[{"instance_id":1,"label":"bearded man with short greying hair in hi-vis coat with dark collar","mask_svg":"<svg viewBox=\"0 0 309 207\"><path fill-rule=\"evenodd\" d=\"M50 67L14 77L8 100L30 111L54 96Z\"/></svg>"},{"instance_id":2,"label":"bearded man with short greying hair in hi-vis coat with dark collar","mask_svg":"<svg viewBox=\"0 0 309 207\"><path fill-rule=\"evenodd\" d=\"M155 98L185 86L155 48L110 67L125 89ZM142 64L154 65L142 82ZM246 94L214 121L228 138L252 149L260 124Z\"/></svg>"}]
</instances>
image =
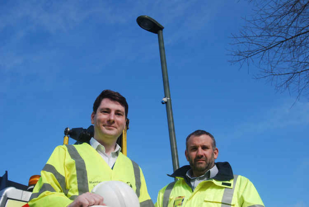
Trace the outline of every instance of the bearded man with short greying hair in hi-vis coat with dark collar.
<instances>
[{"instance_id":1,"label":"bearded man with short greying hair in hi-vis coat with dark collar","mask_svg":"<svg viewBox=\"0 0 309 207\"><path fill-rule=\"evenodd\" d=\"M186 139L185 156L190 165L169 175L179 180L159 191L156 207L264 207L249 179L233 175L228 162L214 162L218 148L209 132L191 133Z\"/></svg>"}]
</instances>

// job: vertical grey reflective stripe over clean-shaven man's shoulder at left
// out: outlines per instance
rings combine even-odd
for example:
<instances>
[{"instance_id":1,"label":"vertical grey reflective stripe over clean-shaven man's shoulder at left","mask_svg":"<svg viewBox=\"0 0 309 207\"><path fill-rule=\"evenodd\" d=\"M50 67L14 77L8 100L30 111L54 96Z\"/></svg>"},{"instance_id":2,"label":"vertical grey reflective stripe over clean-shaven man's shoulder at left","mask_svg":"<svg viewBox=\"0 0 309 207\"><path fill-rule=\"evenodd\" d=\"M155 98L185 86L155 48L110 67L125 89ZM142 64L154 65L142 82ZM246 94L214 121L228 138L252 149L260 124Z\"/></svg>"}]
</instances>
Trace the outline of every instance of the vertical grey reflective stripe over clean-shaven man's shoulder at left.
<instances>
[{"instance_id":1,"label":"vertical grey reflective stripe over clean-shaven man's shoulder at left","mask_svg":"<svg viewBox=\"0 0 309 207\"><path fill-rule=\"evenodd\" d=\"M71 158L75 161L78 195L89 192L86 164L74 145L65 145Z\"/></svg>"}]
</instances>

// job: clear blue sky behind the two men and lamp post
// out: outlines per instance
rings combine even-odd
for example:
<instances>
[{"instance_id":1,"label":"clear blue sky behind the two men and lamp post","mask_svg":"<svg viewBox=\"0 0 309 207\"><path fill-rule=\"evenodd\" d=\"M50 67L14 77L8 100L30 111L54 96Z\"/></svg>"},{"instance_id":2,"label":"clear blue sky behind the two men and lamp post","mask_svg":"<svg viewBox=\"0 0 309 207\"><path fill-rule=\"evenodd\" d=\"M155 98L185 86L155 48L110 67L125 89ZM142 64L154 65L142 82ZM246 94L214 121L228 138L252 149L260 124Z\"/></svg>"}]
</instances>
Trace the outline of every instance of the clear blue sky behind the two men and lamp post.
<instances>
[{"instance_id":1,"label":"clear blue sky behind the two men and lamp post","mask_svg":"<svg viewBox=\"0 0 309 207\"><path fill-rule=\"evenodd\" d=\"M0 174L27 184L64 129L88 127L95 97L112 89L129 103L128 156L156 201L173 179L158 37L136 23L149 15L165 27L180 166L186 136L204 129L217 161L248 177L266 206L308 206L307 97L291 107L296 94L227 62L228 37L250 14L238 0L1 1Z\"/></svg>"}]
</instances>

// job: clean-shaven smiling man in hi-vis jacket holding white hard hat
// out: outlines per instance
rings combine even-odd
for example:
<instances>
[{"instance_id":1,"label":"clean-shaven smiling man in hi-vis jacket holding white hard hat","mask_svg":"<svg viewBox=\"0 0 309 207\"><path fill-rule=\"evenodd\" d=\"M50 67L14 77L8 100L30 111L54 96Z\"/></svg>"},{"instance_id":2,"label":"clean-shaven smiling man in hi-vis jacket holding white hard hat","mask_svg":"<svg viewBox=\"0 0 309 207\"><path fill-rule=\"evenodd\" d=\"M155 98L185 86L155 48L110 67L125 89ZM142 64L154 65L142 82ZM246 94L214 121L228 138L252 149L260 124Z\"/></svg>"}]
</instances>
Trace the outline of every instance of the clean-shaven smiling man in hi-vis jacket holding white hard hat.
<instances>
[{"instance_id":1,"label":"clean-shaven smiling man in hi-vis jacket holding white hard hat","mask_svg":"<svg viewBox=\"0 0 309 207\"><path fill-rule=\"evenodd\" d=\"M91 114L94 137L89 143L56 147L33 189L31 206L87 207L104 205L90 193L103 181L119 180L136 192L141 207L153 207L141 168L116 143L125 128L128 103L120 93L104 90Z\"/></svg>"}]
</instances>

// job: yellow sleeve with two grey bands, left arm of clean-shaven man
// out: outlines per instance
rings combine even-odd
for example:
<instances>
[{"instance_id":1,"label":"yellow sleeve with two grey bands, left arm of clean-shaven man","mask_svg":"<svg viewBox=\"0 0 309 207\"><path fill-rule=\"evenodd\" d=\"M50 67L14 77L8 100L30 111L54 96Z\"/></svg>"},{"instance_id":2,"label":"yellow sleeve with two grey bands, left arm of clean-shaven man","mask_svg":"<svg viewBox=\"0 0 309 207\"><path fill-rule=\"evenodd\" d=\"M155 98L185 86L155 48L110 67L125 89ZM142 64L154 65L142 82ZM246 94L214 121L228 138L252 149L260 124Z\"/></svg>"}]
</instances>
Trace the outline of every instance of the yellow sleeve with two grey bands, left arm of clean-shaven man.
<instances>
[{"instance_id":1,"label":"yellow sleeve with two grey bands, left arm of clean-shaven man","mask_svg":"<svg viewBox=\"0 0 309 207\"><path fill-rule=\"evenodd\" d=\"M33 189L30 207L69 205L72 200L66 196L65 159L66 148L58 146L54 149L46 165L41 171L41 177Z\"/></svg>"}]
</instances>

